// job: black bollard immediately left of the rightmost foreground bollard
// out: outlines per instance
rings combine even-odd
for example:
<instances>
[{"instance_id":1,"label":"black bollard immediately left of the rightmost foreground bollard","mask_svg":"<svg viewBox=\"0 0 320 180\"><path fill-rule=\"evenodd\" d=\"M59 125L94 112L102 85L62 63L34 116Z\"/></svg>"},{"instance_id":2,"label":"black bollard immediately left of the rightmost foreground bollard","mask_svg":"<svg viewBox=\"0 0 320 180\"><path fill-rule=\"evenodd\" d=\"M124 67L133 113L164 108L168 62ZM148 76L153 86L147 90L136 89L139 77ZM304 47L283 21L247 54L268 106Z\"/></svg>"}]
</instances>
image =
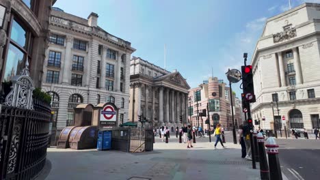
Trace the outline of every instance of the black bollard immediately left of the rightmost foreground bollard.
<instances>
[{"instance_id":1,"label":"black bollard immediately left of the rightmost foreground bollard","mask_svg":"<svg viewBox=\"0 0 320 180\"><path fill-rule=\"evenodd\" d=\"M257 135L258 150L259 150L259 162L260 162L260 177L261 180L269 180L269 167L267 162L267 155L265 154L265 140L261 132Z\"/></svg>"}]
</instances>

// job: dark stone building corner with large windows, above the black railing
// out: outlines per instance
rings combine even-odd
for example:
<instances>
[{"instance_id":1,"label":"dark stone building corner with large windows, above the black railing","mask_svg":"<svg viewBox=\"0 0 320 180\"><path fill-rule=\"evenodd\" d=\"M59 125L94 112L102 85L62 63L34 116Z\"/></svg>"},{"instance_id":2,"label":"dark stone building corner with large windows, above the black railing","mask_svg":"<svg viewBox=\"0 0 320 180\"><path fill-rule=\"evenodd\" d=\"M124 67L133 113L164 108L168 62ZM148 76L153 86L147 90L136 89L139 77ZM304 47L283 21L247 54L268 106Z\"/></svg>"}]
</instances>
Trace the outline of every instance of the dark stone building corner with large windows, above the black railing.
<instances>
[{"instance_id":1,"label":"dark stone building corner with large windows, above the black railing","mask_svg":"<svg viewBox=\"0 0 320 180\"><path fill-rule=\"evenodd\" d=\"M11 80L29 64L34 85L40 87L53 3L0 0L0 82Z\"/></svg>"}]
</instances>

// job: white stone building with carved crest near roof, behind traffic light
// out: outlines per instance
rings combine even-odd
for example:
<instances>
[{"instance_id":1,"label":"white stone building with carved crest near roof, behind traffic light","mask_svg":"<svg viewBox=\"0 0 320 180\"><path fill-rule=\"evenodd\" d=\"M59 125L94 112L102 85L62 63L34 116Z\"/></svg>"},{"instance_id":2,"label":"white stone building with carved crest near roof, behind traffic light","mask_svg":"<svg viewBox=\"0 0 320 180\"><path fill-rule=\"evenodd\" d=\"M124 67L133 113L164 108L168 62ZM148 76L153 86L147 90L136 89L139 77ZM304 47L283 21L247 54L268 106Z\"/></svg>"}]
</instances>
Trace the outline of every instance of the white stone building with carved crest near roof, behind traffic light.
<instances>
[{"instance_id":1,"label":"white stone building with carved crest near roof, behind traffic light","mask_svg":"<svg viewBox=\"0 0 320 180\"><path fill-rule=\"evenodd\" d=\"M265 119L261 121L263 129L274 130L274 120L277 130L284 125L306 130L318 127L319 33L317 3L304 3L267 19L251 63L256 94L252 117Z\"/></svg>"}]
</instances>

